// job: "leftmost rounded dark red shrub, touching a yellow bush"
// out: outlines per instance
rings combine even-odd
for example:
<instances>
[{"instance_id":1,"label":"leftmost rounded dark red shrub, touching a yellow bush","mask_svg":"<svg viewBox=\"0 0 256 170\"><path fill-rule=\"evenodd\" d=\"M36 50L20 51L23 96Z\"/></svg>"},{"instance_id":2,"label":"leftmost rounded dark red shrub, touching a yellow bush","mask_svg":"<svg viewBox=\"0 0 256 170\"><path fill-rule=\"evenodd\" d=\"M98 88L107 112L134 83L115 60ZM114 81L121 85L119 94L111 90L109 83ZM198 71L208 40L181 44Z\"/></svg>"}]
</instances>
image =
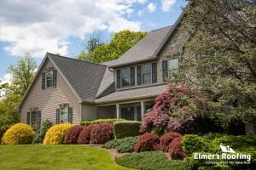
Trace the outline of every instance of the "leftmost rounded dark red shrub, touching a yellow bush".
<instances>
[{"instance_id":1,"label":"leftmost rounded dark red shrub, touching a yellow bush","mask_svg":"<svg viewBox=\"0 0 256 170\"><path fill-rule=\"evenodd\" d=\"M79 134L84 126L76 125L67 130L64 138L64 144L78 144Z\"/></svg>"}]
</instances>

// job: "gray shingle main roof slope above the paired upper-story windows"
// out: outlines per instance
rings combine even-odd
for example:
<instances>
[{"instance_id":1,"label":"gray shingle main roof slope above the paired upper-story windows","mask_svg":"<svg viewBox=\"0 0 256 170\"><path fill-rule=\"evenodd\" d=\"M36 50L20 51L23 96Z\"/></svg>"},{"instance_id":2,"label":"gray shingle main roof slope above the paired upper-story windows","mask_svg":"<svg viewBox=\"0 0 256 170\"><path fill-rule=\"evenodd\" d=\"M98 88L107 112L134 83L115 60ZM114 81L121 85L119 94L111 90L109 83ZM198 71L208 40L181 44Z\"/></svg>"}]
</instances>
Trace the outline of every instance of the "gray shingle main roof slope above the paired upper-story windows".
<instances>
[{"instance_id":1,"label":"gray shingle main roof slope above the paired upper-story windows","mask_svg":"<svg viewBox=\"0 0 256 170\"><path fill-rule=\"evenodd\" d=\"M158 49L164 42L172 26L160 28L158 30L150 31L146 37L137 42L135 46L130 48L119 59L114 60L109 64L109 67L116 67L120 65L128 65L134 62L154 59Z\"/></svg>"}]
</instances>

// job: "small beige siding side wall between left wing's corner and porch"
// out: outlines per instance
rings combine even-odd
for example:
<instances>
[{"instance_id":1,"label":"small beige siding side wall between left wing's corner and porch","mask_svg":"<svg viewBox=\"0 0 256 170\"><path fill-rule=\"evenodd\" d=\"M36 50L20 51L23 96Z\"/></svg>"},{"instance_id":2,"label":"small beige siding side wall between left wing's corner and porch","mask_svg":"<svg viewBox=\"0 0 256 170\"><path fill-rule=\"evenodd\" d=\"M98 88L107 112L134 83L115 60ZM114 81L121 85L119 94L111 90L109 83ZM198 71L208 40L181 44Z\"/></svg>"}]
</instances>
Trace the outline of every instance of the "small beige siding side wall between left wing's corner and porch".
<instances>
[{"instance_id":1,"label":"small beige siding side wall between left wing's corner and porch","mask_svg":"<svg viewBox=\"0 0 256 170\"><path fill-rule=\"evenodd\" d=\"M96 119L96 105L81 104L82 121Z\"/></svg>"}]
</instances>

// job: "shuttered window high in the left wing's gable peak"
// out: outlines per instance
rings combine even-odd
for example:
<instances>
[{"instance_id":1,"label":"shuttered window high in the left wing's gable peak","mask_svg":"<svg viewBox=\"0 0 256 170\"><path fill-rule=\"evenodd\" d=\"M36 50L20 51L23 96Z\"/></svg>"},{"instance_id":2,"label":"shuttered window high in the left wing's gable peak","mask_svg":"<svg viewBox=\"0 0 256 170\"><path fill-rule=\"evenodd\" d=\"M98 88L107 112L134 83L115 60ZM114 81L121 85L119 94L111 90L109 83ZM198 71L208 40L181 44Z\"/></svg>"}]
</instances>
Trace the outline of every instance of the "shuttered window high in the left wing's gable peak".
<instances>
[{"instance_id":1,"label":"shuttered window high in the left wing's gable peak","mask_svg":"<svg viewBox=\"0 0 256 170\"><path fill-rule=\"evenodd\" d=\"M48 71L42 73L42 89L56 87L57 71L49 68Z\"/></svg>"}]
</instances>

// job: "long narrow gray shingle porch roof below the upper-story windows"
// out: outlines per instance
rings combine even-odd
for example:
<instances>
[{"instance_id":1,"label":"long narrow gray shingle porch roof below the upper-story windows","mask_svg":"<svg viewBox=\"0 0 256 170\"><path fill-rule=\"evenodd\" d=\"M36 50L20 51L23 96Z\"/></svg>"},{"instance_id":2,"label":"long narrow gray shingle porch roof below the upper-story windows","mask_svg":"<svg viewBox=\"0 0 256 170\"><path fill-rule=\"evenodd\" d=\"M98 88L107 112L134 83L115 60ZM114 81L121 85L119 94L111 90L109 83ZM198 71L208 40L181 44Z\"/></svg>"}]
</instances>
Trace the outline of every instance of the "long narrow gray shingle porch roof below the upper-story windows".
<instances>
[{"instance_id":1,"label":"long narrow gray shingle porch roof below the upper-story windows","mask_svg":"<svg viewBox=\"0 0 256 170\"><path fill-rule=\"evenodd\" d=\"M108 94L100 99L96 99L97 104L119 102L133 99L147 99L163 93L166 90L165 85L152 86L147 88L134 88L129 90L116 91L113 94Z\"/></svg>"}]
</instances>

